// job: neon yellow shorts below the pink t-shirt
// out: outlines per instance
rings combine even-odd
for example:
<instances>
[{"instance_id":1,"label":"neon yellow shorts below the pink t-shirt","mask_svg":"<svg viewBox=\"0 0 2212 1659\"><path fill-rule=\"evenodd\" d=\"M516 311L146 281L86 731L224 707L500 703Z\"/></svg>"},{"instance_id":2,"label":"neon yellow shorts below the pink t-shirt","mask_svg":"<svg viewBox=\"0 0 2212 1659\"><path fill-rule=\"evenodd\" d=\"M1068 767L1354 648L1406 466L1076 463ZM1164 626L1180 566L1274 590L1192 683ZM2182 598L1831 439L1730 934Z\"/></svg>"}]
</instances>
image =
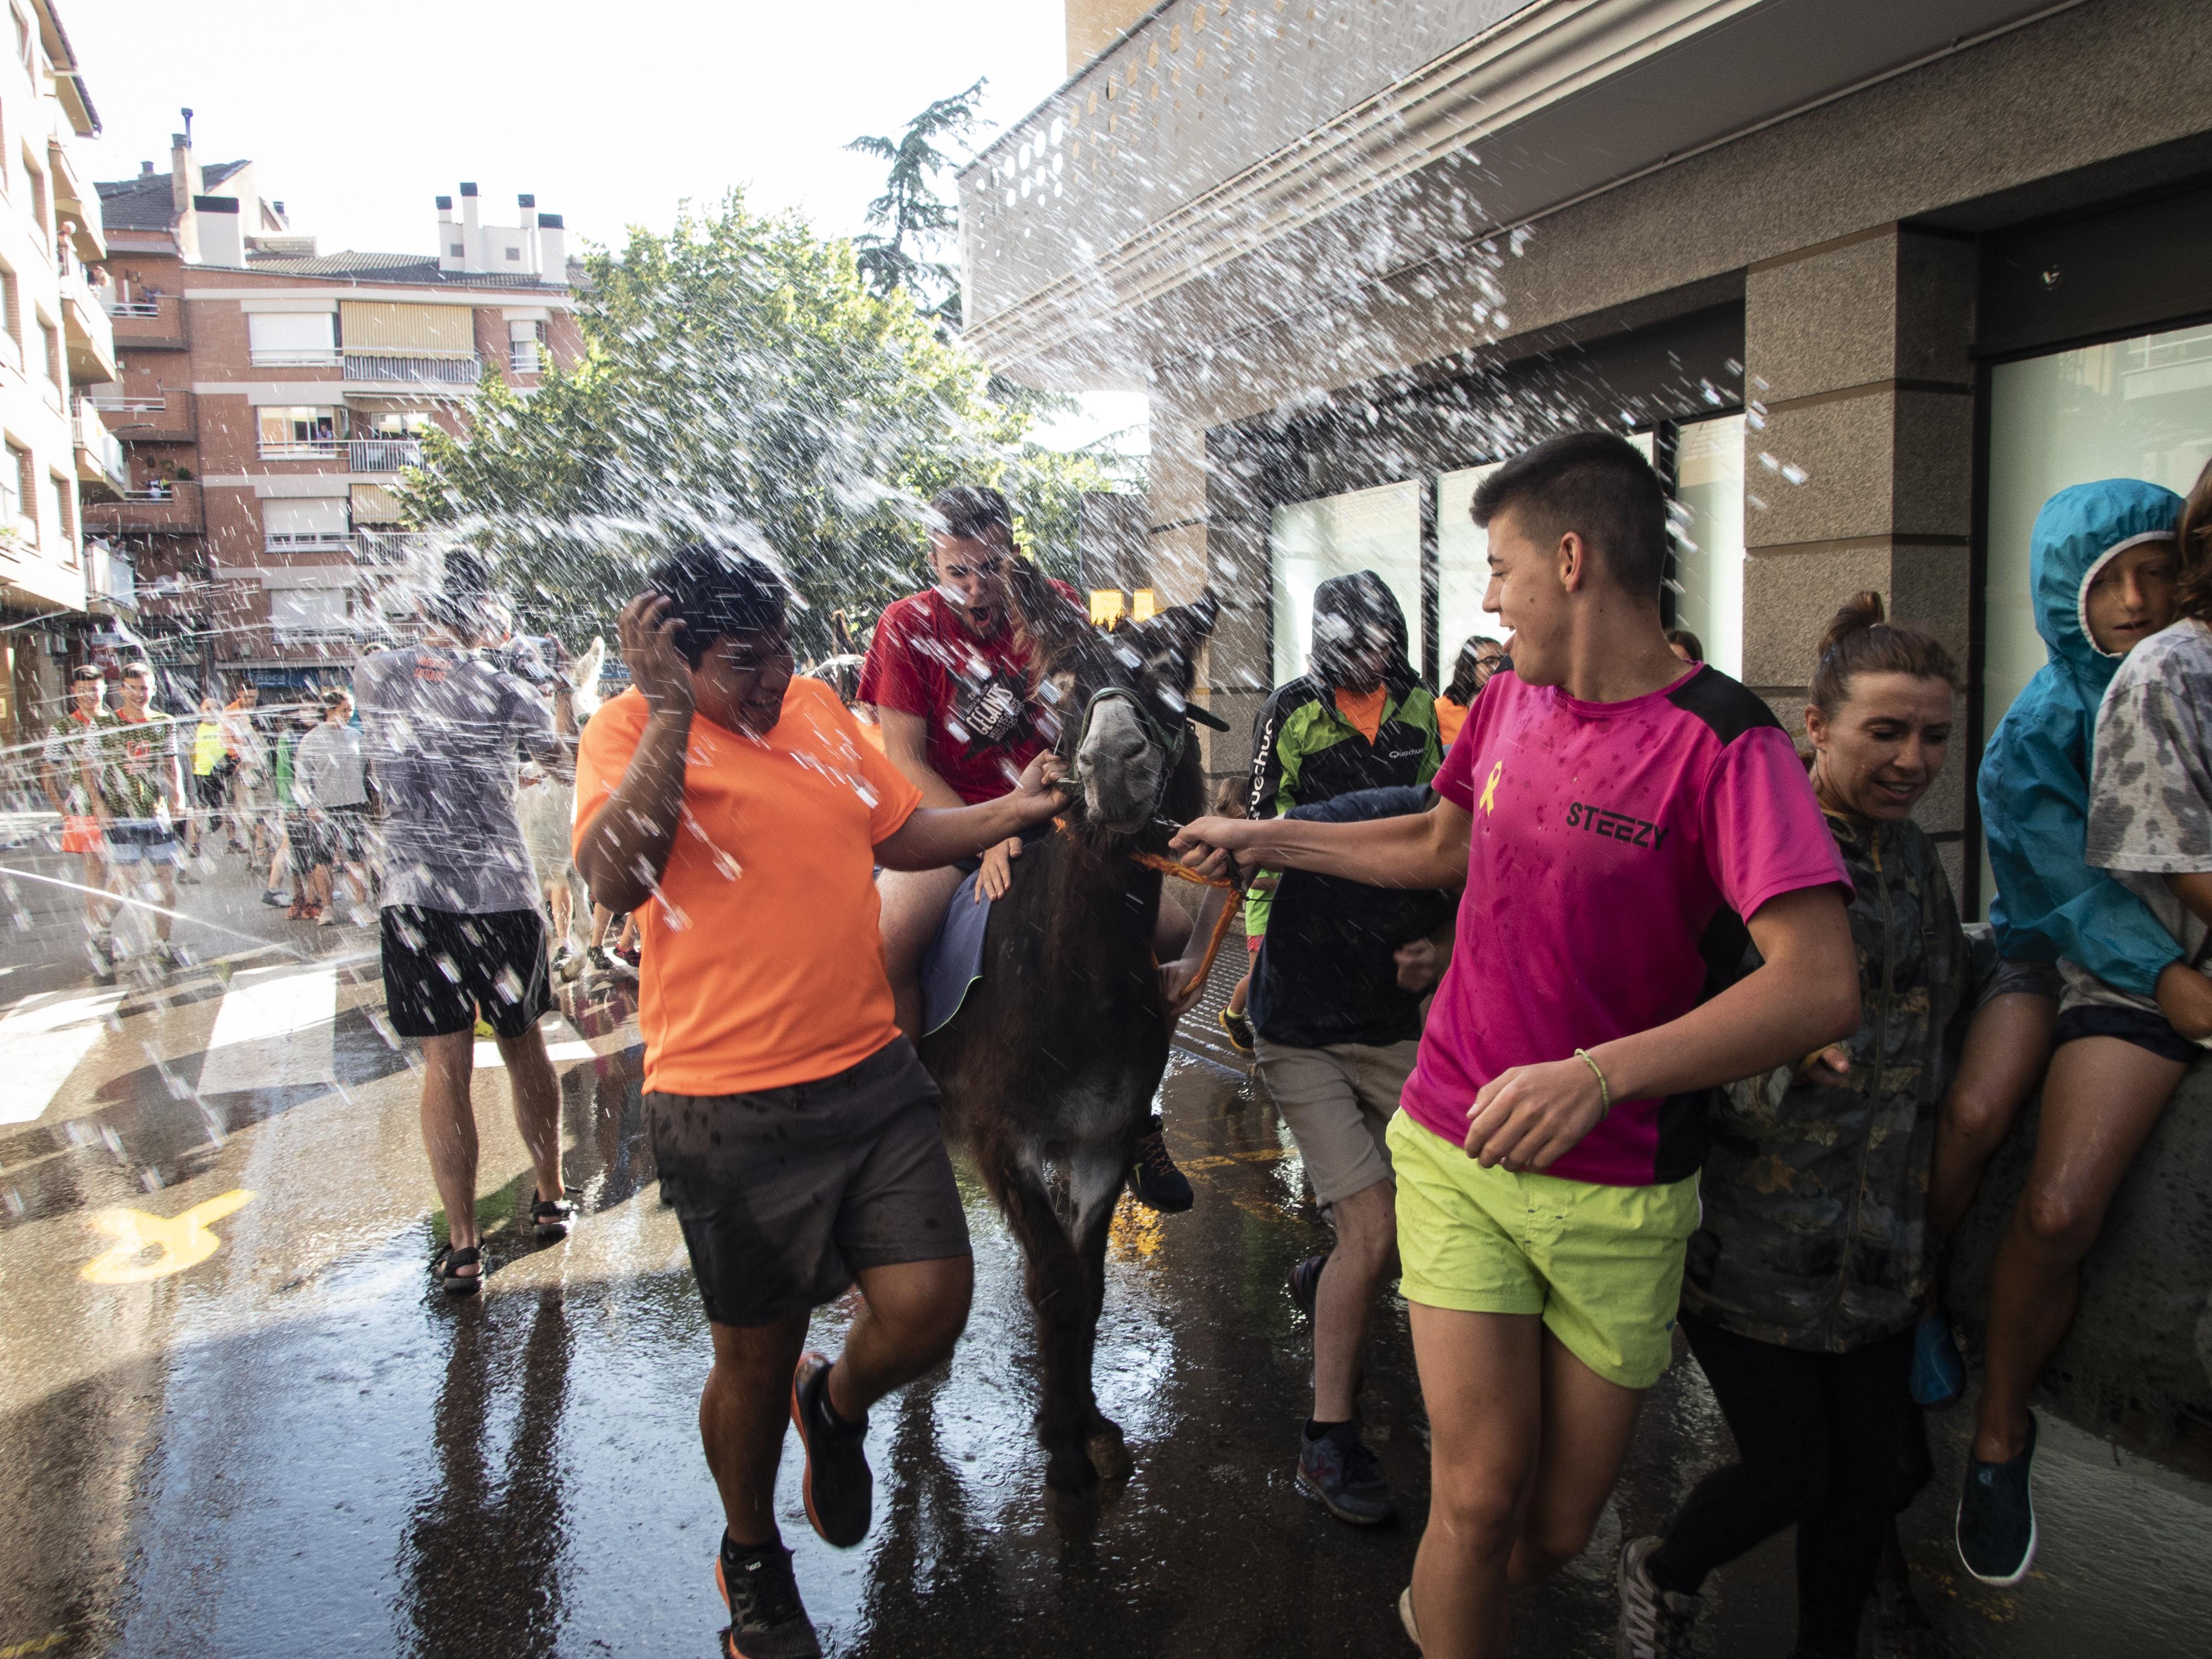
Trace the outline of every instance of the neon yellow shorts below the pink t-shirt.
<instances>
[{"instance_id":1,"label":"neon yellow shorts below the pink t-shirt","mask_svg":"<svg viewBox=\"0 0 2212 1659\"><path fill-rule=\"evenodd\" d=\"M1400 1290L1462 1314L1535 1314L1608 1383L1648 1389L1674 1354L1681 1256L1697 1177L1595 1186L1513 1175L1407 1113L1389 1124L1398 1175Z\"/></svg>"}]
</instances>

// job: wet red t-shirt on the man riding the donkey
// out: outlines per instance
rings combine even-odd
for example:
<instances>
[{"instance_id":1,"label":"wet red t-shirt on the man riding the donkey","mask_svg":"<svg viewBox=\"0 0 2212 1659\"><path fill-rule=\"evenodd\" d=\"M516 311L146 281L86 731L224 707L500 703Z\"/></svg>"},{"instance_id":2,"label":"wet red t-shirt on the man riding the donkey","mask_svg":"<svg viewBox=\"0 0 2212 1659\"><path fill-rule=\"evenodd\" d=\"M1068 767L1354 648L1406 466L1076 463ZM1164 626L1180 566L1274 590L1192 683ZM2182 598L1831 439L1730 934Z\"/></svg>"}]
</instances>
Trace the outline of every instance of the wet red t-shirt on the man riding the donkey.
<instances>
[{"instance_id":1,"label":"wet red t-shirt on the man riding the donkey","mask_svg":"<svg viewBox=\"0 0 2212 1659\"><path fill-rule=\"evenodd\" d=\"M1066 582L1053 588L1082 604ZM978 639L945 595L927 588L883 613L856 701L927 721L929 768L973 805L1006 794L1022 768L1051 748L1031 692L1031 666L1013 628Z\"/></svg>"}]
</instances>

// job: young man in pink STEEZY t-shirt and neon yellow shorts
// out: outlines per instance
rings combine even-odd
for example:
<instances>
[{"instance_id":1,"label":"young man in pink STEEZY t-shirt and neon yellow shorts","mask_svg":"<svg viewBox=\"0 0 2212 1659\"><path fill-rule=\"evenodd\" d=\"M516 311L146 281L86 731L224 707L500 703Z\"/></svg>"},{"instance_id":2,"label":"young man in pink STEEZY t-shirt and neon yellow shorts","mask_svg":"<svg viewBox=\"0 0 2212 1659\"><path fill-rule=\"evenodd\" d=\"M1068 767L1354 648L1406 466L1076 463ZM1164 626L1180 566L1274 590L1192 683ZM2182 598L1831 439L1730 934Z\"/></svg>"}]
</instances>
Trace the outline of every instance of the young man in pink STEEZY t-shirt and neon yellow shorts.
<instances>
[{"instance_id":1,"label":"young man in pink STEEZY t-shirt and neon yellow shorts","mask_svg":"<svg viewBox=\"0 0 2212 1659\"><path fill-rule=\"evenodd\" d=\"M1203 818L1181 845L1467 887L1389 1130L1433 1436L1400 1615L1429 1652L1495 1655L1506 1590L1584 1548L1668 1365L1705 1093L1856 1031L1858 964L1787 734L1668 648L1644 458L1553 438L1484 480L1473 520L1513 672L1475 699L1438 807ZM1745 938L1763 967L1728 984Z\"/></svg>"}]
</instances>

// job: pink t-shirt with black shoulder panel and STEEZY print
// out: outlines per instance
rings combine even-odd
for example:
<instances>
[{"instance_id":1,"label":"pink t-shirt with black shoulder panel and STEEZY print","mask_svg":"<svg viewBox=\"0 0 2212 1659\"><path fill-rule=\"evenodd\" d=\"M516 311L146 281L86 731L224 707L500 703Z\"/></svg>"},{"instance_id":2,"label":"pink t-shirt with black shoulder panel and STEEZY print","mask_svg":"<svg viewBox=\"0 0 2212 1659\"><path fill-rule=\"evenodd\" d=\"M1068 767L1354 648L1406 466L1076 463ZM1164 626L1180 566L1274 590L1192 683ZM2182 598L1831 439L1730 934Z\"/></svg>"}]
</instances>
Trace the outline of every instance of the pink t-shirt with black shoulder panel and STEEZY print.
<instances>
[{"instance_id":1,"label":"pink t-shirt with black shoulder panel and STEEZY print","mask_svg":"<svg viewBox=\"0 0 2212 1659\"><path fill-rule=\"evenodd\" d=\"M1741 960L1736 918L1849 878L1774 712L1714 668L1626 703L1495 675L1431 785L1473 814L1451 971L1405 1086L1458 1144L1475 1091L1688 1013L1701 947ZM1717 962L1719 964L1719 962ZM1615 1099L1551 1166L1601 1186L1703 1161L1705 1091Z\"/></svg>"}]
</instances>

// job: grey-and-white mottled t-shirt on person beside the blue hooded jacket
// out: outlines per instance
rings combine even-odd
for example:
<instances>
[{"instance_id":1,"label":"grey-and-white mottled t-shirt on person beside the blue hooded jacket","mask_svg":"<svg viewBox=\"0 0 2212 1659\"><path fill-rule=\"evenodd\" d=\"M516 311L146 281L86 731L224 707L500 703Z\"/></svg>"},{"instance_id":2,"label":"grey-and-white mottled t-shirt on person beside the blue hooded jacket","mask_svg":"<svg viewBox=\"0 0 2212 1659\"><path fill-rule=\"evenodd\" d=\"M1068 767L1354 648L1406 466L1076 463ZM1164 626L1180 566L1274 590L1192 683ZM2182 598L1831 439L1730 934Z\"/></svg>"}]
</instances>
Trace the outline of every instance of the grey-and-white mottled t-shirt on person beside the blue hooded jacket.
<instances>
[{"instance_id":1,"label":"grey-and-white mottled t-shirt on person beside the blue hooded jacket","mask_svg":"<svg viewBox=\"0 0 2212 1659\"><path fill-rule=\"evenodd\" d=\"M2201 622L2183 617L2150 635L2104 692L2088 783L2088 863L2143 900L2185 962L2205 967L2205 925L2163 880L2212 869L2212 628ZM2068 1000L2157 1009L2070 962L2059 967Z\"/></svg>"}]
</instances>

